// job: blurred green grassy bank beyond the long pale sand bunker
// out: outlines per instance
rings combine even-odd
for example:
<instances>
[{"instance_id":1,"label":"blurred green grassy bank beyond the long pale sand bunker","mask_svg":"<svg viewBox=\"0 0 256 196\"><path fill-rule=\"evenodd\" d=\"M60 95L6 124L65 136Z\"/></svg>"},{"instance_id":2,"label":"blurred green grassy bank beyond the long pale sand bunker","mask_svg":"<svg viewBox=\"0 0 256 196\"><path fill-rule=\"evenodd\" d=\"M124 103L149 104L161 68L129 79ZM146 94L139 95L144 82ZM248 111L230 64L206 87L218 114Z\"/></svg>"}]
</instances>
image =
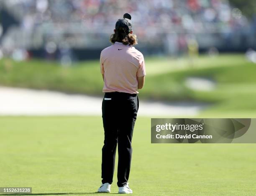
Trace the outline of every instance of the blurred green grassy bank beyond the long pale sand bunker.
<instances>
[{"instance_id":1,"label":"blurred green grassy bank beyond the long pale sand bunker","mask_svg":"<svg viewBox=\"0 0 256 196\"><path fill-rule=\"evenodd\" d=\"M203 111L206 115L256 116L256 65L243 54L201 55L193 64L186 57L145 57L145 61L147 76L145 87L140 90L141 99L207 103L209 107ZM216 88L189 89L185 85L188 77L211 79ZM2 59L0 85L102 96L103 81L99 61L61 67L55 61Z\"/></svg>"}]
</instances>

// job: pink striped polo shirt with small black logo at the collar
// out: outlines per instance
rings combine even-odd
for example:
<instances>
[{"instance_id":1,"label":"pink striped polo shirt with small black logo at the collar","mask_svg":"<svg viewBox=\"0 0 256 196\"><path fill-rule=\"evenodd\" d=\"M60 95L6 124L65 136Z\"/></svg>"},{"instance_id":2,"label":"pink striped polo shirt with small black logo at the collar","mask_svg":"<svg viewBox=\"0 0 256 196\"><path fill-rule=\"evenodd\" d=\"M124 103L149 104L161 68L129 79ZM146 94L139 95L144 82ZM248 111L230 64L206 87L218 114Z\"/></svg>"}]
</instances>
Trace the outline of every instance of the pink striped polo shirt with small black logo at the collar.
<instances>
[{"instance_id":1,"label":"pink striped polo shirt with small black logo at the collar","mask_svg":"<svg viewBox=\"0 0 256 196\"><path fill-rule=\"evenodd\" d=\"M137 76L145 76L143 54L133 46L115 42L100 54L100 72L104 74L102 92L138 93Z\"/></svg>"}]
</instances>

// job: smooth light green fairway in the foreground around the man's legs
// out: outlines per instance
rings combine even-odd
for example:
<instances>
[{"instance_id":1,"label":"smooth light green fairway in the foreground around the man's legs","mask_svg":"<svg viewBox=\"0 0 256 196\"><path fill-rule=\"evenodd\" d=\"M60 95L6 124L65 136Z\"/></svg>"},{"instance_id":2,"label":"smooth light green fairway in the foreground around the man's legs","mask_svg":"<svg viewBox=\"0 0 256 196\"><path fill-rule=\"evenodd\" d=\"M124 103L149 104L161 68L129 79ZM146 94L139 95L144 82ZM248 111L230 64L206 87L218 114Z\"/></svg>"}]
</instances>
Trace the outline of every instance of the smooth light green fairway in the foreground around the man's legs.
<instances>
[{"instance_id":1,"label":"smooth light green fairway in the foreground around the man's legs","mask_svg":"<svg viewBox=\"0 0 256 196\"><path fill-rule=\"evenodd\" d=\"M134 196L256 195L255 144L151 144L150 130L150 118L138 117ZM92 195L101 183L103 137L101 117L0 117L0 186ZM116 182L115 172L111 193Z\"/></svg>"}]
</instances>

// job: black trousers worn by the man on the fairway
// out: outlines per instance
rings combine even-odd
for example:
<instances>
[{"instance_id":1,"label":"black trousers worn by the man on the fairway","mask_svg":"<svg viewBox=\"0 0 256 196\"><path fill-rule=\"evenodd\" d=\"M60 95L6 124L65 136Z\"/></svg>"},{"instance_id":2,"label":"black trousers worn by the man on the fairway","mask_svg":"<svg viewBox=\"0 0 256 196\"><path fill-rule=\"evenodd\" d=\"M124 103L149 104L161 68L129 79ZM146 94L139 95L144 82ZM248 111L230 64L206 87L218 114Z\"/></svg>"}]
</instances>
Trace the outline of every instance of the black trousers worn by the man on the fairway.
<instances>
[{"instance_id":1,"label":"black trousers worn by the man on the fairway","mask_svg":"<svg viewBox=\"0 0 256 196\"><path fill-rule=\"evenodd\" d=\"M102 101L104 145L102 148L102 183L112 183L118 144L118 186L127 184L130 168L133 128L138 112L137 94L105 93Z\"/></svg>"}]
</instances>

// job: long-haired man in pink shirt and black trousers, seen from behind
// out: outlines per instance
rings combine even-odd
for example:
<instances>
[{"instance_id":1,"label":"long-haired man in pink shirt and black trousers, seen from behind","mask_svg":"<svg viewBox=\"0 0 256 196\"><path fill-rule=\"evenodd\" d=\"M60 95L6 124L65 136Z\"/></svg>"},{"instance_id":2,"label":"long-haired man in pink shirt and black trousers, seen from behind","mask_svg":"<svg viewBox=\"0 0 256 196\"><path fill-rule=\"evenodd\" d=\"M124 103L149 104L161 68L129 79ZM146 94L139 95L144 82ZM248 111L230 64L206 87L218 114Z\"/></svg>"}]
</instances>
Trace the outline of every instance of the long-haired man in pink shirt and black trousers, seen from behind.
<instances>
[{"instance_id":1,"label":"long-haired man in pink shirt and black trousers, seen from behind","mask_svg":"<svg viewBox=\"0 0 256 196\"><path fill-rule=\"evenodd\" d=\"M126 13L115 24L110 36L113 45L100 54L100 71L104 80L102 120L105 133L102 148L101 193L110 193L118 144L118 193L133 193L128 186L131 168L132 136L139 102L138 89L145 81L145 64L132 31L131 15Z\"/></svg>"}]
</instances>

